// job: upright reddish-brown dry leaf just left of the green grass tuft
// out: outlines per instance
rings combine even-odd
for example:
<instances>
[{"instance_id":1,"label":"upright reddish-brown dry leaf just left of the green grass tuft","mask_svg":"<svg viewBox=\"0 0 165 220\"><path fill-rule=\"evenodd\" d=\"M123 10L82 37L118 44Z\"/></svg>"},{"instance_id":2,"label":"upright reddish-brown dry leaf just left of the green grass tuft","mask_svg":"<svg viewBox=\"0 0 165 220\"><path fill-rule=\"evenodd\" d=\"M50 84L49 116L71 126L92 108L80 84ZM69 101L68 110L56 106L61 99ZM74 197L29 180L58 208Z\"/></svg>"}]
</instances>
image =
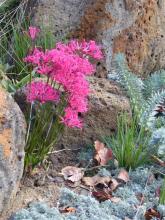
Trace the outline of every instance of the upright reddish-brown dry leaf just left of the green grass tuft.
<instances>
[{"instance_id":1,"label":"upright reddish-brown dry leaf just left of the green grass tuft","mask_svg":"<svg viewBox=\"0 0 165 220\"><path fill-rule=\"evenodd\" d=\"M112 159L112 150L106 148L105 145L100 141L95 141L94 146L96 150L95 159L98 161L100 165L106 165L108 161Z\"/></svg>"}]
</instances>

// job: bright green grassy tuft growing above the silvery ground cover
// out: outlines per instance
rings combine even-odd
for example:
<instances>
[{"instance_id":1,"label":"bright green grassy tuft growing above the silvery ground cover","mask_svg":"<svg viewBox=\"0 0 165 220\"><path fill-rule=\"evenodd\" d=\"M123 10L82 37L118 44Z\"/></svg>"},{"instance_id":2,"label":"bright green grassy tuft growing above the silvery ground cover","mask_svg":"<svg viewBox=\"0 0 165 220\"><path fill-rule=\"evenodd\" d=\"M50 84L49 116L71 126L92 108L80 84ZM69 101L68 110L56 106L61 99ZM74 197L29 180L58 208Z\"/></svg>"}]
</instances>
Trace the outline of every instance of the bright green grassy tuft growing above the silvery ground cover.
<instances>
[{"instance_id":1,"label":"bright green grassy tuft growing above the silvery ground cover","mask_svg":"<svg viewBox=\"0 0 165 220\"><path fill-rule=\"evenodd\" d=\"M149 135L135 118L129 120L126 115L120 115L116 135L105 138L105 142L112 148L120 167L129 170L149 162L152 152L148 148Z\"/></svg>"}]
</instances>

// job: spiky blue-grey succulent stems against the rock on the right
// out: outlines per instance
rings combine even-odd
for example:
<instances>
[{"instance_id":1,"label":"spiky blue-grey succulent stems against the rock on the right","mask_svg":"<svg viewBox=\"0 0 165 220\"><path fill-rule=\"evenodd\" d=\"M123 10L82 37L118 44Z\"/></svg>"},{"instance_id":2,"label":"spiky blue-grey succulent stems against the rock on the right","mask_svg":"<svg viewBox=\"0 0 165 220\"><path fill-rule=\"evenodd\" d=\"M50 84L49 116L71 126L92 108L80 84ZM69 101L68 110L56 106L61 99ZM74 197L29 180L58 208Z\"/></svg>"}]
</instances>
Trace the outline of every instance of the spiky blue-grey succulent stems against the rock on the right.
<instances>
[{"instance_id":1,"label":"spiky blue-grey succulent stems against the rock on the right","mask_svg":"<svg viewBox=\"0 0 165 220\"><path fill-rule=\"evenodd\" d=\"M139 118L141 126L152 130L156 123L155 109L165 100L165 70L142 81L129 70L123 54L115 56L114 65L117 81L130 98L133 114Z\"/></svg>"}]
</instances>

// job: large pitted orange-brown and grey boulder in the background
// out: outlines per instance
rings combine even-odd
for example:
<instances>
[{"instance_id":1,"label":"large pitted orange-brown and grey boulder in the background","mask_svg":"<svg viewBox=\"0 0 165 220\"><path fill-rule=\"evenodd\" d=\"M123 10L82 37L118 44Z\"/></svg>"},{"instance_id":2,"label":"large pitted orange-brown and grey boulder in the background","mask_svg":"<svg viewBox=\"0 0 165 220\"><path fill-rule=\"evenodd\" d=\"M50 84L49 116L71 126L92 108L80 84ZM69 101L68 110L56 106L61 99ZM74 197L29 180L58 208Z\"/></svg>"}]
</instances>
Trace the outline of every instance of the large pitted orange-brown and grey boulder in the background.
<instances>
[{"instance_id":1,"label":"large pitted orange-brown and grey boulder in the background","mask_svg":"<svg viewBox=\"0 0 165 220\"><path fill-rule=\"evenodd\" d=\"M101 42L108 71L117 52L141 76L165 67L163 0L38 0L34 20L56 34Z\"/></svg>"}]
</instances>

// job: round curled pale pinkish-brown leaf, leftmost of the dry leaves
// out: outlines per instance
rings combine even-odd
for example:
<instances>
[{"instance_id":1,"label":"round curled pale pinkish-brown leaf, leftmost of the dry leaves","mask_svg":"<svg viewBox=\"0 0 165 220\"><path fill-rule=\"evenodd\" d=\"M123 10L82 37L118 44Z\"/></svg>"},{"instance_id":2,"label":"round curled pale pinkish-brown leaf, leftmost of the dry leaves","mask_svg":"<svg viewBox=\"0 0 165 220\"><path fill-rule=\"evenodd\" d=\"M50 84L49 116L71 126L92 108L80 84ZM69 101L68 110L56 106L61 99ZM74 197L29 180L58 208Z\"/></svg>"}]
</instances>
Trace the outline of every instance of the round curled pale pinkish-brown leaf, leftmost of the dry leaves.
<instances>
[{"instance_id":1,"label":"round curled pale pinkish-brown leaf, leftmost of the dry leaves","mask_svg":"<svg viewBox=\"0 0 165 220\"><path fill-rule=\"evenodd\" d=\"M73 183L78 182L84 176L83 169L73 166L64 167L61 173L65 180L70 180Z\"/></svg>"}]
</instances>

